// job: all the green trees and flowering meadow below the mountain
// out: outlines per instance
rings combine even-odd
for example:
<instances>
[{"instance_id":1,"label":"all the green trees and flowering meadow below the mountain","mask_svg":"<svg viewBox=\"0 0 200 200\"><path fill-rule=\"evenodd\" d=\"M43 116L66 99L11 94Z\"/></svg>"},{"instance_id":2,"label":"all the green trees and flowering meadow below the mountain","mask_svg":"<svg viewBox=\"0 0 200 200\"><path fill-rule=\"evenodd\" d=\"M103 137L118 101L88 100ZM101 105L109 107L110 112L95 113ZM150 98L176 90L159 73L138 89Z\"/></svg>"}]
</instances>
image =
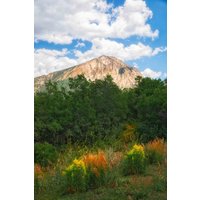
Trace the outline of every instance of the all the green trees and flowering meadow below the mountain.
<instances>
[{"instance_id":1,"label":"all the green trees and flowering meadow below the mountain","mask_svg":"<svg viewBox=\"0 0 200 200\"><path fill-rule=\"evenodd\" d=\"M166 90L48 82L35 93L35 199L166 199Z\"/></svg>"}]
</instances>

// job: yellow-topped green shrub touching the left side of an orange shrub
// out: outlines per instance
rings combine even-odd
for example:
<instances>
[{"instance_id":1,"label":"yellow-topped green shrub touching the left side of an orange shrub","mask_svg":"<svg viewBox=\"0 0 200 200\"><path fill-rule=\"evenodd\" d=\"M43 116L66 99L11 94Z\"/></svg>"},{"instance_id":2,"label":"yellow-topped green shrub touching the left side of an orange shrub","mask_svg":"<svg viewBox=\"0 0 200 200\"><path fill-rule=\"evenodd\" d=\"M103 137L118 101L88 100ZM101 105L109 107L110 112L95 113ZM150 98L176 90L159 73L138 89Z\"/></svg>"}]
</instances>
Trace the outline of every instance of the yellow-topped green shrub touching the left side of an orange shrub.
<instances>
[{"instance_id":1,"label":"yellow-topped green shrub touching the left side of an orange shrub","mask_svg":"<svg viewBox=\"0 0 200 200\"><path fill-rule=\"evenodd\" d=\"M63 172L66 177L68 193L86 190L86 167L82 160L73 160L73 163Z\"/></svg>"}]
</instances>

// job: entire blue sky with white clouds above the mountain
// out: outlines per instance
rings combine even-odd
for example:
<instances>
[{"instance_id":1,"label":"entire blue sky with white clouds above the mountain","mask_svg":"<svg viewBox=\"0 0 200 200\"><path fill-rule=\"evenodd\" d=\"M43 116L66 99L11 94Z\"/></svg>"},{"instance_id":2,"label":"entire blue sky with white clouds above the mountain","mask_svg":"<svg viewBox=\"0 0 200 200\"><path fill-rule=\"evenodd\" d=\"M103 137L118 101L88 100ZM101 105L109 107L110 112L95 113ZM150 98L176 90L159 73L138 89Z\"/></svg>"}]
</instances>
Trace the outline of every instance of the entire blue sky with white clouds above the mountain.
<instances>
[{"instance_id":1,"label":"entire blue sky with white clouds above the mountain","mask_svg":"<svg viewBox=\"0 0 200 200\"><path fill-rule=\"evenodd\" d=\"M166 0L35 1L35 76L104 54L165 78L166 47Z\"/></svg>"}]
</instances>

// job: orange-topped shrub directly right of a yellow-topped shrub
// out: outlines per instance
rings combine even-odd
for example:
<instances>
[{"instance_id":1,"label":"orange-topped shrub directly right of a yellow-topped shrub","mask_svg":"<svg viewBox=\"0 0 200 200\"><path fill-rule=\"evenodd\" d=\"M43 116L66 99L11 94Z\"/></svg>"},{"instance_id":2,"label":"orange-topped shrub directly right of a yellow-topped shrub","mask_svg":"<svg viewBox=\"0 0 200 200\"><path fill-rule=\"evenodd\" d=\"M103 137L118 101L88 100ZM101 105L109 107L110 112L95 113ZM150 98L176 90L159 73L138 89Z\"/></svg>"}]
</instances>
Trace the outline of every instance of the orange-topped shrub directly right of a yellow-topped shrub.
<instances>
[{"instance_id":1,"label":"orange-topped shrub directly right of a yellow-topped shrub","mask_svg":"<svg viewBox=\"0 0 200 200\"><path fill-rule=\"evenodd\" d=\"M98 187L105 182L108 164L104 152L87 154L83 157L87 169L87 185L89 188Z\"/></svg>"}]
</instances>

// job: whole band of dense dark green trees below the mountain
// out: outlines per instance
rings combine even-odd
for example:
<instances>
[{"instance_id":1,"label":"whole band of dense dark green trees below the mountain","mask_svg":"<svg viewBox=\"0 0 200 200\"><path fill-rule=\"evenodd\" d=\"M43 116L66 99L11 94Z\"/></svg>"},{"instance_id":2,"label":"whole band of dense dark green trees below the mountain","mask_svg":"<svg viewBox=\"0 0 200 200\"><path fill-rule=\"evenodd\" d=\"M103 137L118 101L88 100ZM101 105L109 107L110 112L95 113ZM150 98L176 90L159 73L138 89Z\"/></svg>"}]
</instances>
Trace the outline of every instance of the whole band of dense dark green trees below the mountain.
<instances>
[{"instance_id":1,"label":"whole band of dense dark green trees below the mountain","mask_svg":"<svg viewBox=\"0 0 200 200\"><path fill-rule=\"evenodd\" d=\"M137 87L121 90L110 76L87 81L69 79L68 87L48 82L35 93L35 142L53 145L92 144L116 136L127 122L137 126L137 137L147 142L166 138L166 81L137 79Z\"/></svg>"}]
</instances>

